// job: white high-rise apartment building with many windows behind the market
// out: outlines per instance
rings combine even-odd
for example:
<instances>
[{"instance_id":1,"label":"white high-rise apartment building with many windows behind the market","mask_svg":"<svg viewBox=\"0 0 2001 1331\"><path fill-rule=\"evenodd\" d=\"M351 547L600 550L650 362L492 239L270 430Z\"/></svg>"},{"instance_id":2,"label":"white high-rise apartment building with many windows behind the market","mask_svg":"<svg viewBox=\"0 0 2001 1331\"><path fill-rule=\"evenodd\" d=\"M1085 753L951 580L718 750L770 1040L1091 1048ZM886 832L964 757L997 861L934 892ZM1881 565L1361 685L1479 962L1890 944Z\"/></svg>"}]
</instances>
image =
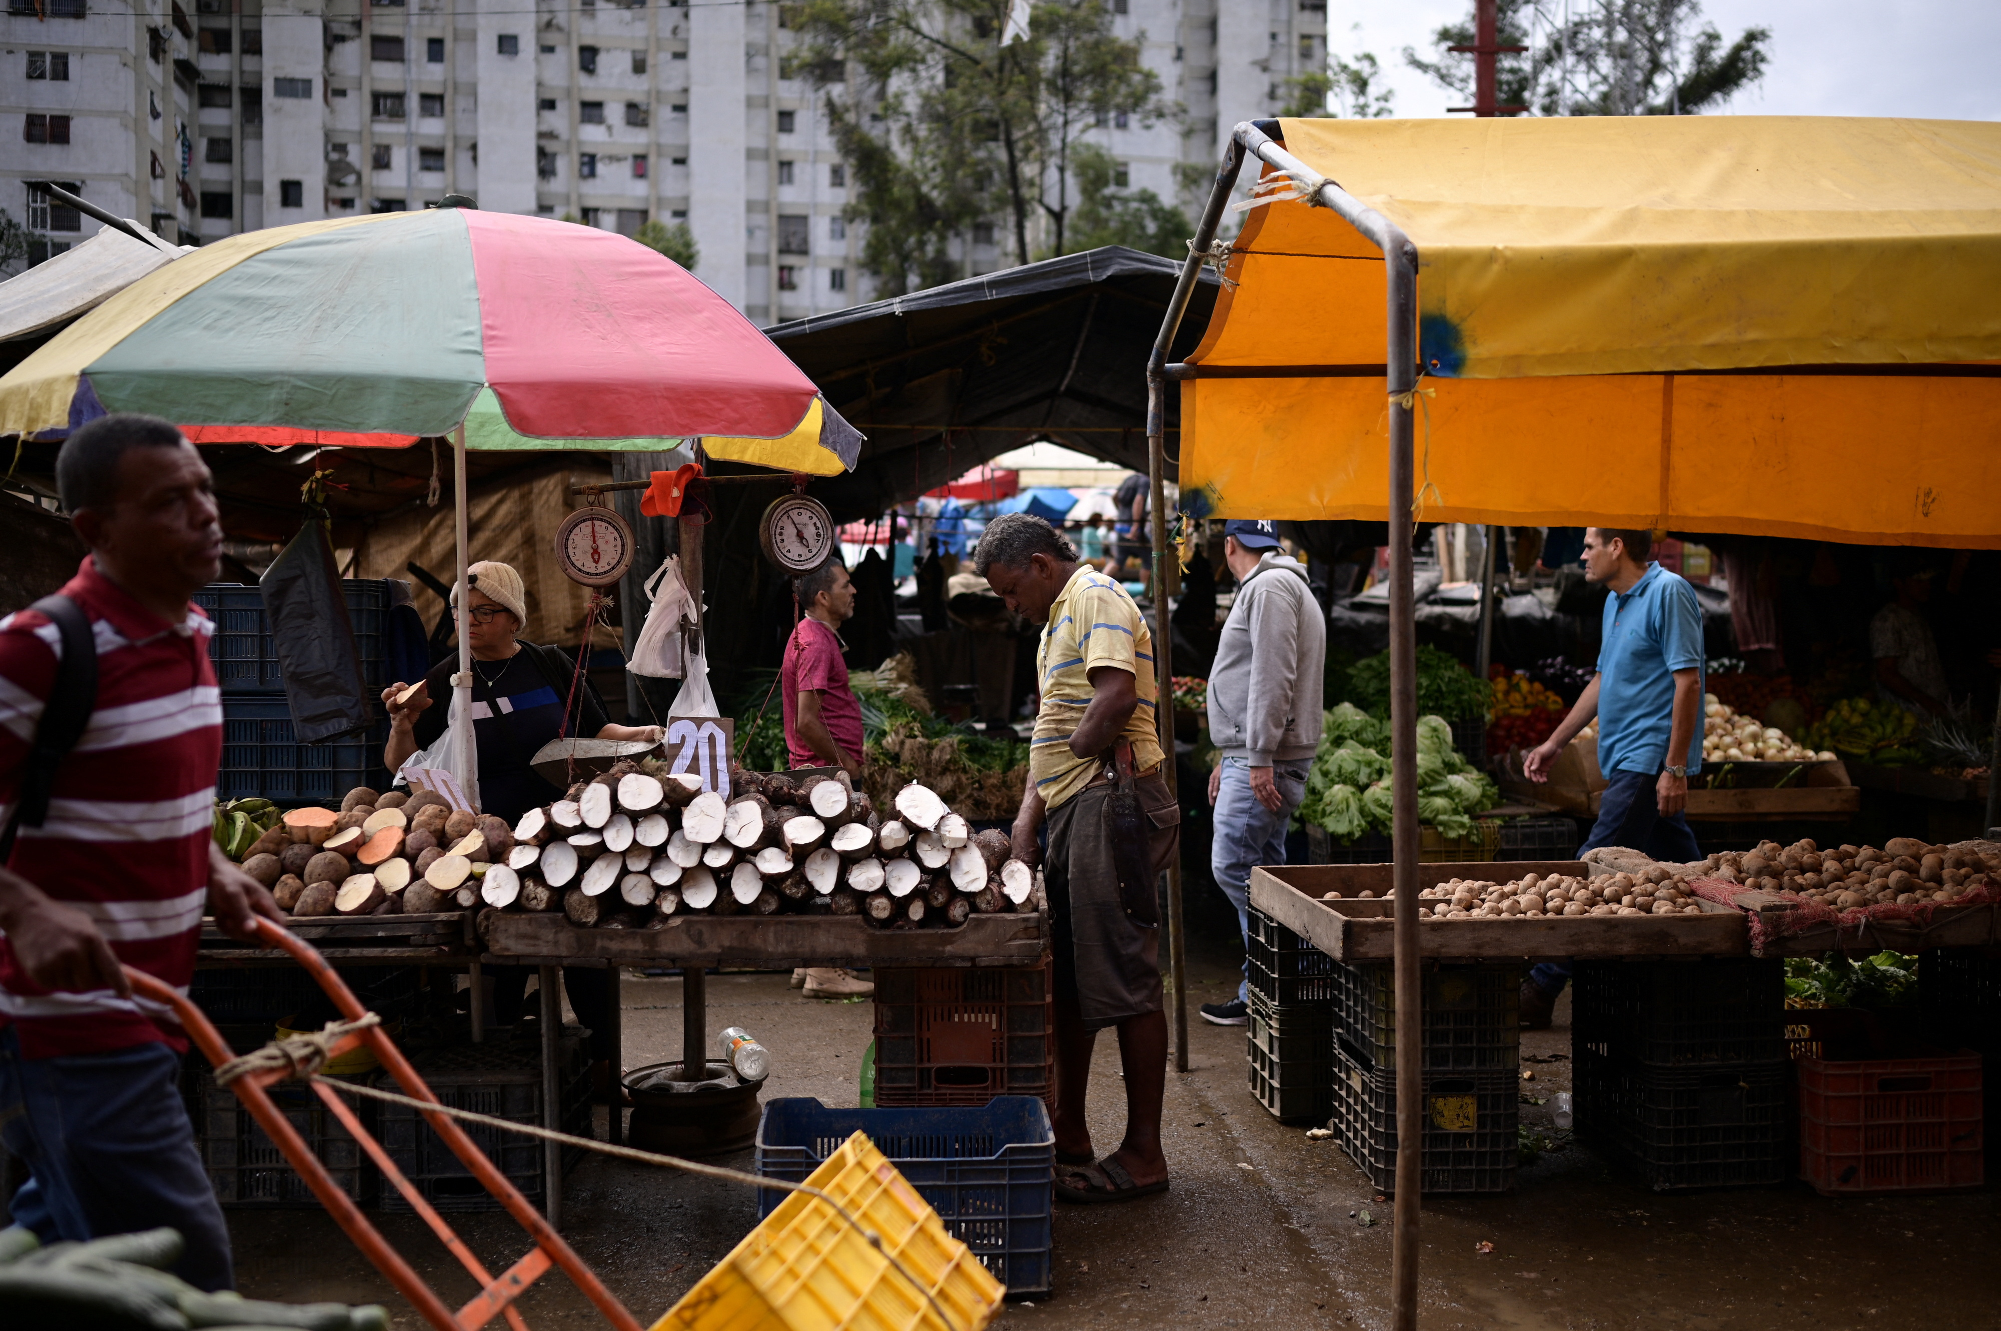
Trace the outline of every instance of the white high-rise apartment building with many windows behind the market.
<instances>
[{"instance_id":1,"label":"white high-rise apartment building with many windows behind the market","mask_svg":"<svg viewBox=\"0 0 2001 1331\"><path fill-rule=\"evenodd\" d=\"M1219 134L1327 56L1325 0L1107 0L1183 114L1095 134L1183 196ZM192 12L190 12L192 6ZM96 230L54 180L170 240L354 212L480 208L632 234L686 222L696 272L760 324L870 298L846 164L780 76L782 6L660 0L8 0L0 208L36 258ZM968 268L1013 262L978 228Z\"/></svg>"}]
</instances>

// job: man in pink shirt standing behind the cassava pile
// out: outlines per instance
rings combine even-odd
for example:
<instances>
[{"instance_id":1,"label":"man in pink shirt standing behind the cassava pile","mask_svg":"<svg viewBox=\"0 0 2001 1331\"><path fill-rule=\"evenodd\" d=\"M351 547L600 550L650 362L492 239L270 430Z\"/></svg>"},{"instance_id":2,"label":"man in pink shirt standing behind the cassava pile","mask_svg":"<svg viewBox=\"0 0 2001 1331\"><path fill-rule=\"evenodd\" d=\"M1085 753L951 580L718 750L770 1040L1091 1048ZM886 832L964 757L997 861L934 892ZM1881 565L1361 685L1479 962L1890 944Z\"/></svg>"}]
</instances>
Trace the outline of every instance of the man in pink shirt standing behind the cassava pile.
<instances>
[{"instance_id":1,"label":"man in pink shirt standing behind the cassava pile","mask_svg":"<svg viewBox=\"0 0 2001 1331\"><path fill-rule=\"evenodd\" d=\"M804 616L792 626L778 667L784 695L784 747L792 767L838 767L860 781L862 705L848 689L848 667L840 660L840 624L854 616L854 582L828 558L792 580ZM792 987L808 999L872 997L874 985L834 967L792 971Z\"/></svg>"}]
</instances>

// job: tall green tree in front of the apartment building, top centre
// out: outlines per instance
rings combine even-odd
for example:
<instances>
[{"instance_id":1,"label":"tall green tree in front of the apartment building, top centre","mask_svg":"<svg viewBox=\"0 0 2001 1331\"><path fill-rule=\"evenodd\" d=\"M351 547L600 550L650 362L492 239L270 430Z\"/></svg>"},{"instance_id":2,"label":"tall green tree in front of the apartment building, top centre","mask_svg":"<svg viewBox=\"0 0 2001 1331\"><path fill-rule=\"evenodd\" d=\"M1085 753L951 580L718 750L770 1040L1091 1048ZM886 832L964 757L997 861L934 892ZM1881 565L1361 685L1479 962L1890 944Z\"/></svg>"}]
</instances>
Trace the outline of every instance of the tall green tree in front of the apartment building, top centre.
<instances>
[{"instance_id":1,"label":"tall green tree in front of the apartment building, top centre","mask_svg":"<svg viewBox=\"0 0 2001 1331\"><path fill-rule=\"evenodd\" d=\"M814 84L882 294L960 276L974 222L1005 222L1017 262L1065 252L1071 160L1117 116L1173 114L1141 44L1103 0L1045 0L1003 42L1009 0L804 0L786 72Z\"/></svg>"}]
</instances>

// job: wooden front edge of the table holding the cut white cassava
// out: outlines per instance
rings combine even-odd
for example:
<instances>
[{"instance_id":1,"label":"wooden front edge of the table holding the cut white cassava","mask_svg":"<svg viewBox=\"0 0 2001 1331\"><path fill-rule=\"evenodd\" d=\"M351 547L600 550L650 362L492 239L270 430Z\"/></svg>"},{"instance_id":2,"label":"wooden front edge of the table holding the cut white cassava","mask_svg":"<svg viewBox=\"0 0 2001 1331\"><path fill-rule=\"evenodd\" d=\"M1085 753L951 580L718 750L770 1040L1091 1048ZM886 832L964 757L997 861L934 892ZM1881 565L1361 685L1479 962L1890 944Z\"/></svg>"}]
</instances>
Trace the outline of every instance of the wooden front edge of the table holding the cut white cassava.
<instances>
[{"instance_id":1,"label":"wooden front edge of the table holding the cut white cassava","mask_svg":"<svg viewBox=\"0 0 2001 1331\"><path fill-rule=\"evenodd\" d=\"M852 915L678 915L664 929L578 929L560 913L482 911L486 961L758 967L1033 967L1049 915L974 915L958 929L878 929Z\"/></svg>"}]
</instances>

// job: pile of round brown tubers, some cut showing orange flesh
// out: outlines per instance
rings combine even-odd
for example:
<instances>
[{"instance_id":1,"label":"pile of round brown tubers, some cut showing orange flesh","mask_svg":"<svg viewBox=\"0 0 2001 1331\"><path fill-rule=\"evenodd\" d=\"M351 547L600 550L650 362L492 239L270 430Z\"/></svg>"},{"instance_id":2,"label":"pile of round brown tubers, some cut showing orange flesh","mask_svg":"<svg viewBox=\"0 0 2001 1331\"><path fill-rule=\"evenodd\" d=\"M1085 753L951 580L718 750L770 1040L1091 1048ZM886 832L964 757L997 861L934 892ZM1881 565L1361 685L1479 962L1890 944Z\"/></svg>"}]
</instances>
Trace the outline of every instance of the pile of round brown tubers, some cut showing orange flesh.
<instances>
[{"instance_id":1,"label":"pile of round brown tubers, some cut showing orange flesh","mask_svg":"<svg viewBox=\"0 0 2001 1331\"><path fill-rule=\"evenodd\" d=\"M292 915L426 915L508 885L512 849L506 823L454 811L442 795L356 787L340 813L286 811L242 867Z\"/></svg>"}]
</instances>

